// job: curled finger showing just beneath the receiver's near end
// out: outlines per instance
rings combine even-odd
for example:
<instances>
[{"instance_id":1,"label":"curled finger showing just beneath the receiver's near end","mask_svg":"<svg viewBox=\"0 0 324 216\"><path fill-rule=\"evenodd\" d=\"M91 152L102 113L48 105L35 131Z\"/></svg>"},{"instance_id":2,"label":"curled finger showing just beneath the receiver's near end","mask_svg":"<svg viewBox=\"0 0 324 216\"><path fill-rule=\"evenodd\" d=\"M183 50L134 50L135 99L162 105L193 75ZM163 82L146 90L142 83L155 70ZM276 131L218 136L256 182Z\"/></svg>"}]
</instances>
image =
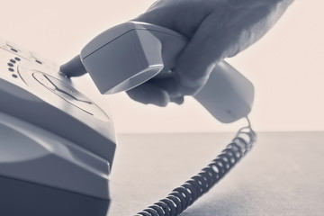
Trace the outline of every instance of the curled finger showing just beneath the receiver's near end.
<instances>
[{"instance_id":1,"label":"curled finger showing just beneath the receiver's near end","mask_svg":"<svg viewBox=\"0 0 324 216\"><path fill-rule=\"evenodd\" d=\"M165 90L149 82L134 87L126 93L131 99L139 103L166 106L166 104L170 102L170 97Z\"/></svg>"}]
</instances>

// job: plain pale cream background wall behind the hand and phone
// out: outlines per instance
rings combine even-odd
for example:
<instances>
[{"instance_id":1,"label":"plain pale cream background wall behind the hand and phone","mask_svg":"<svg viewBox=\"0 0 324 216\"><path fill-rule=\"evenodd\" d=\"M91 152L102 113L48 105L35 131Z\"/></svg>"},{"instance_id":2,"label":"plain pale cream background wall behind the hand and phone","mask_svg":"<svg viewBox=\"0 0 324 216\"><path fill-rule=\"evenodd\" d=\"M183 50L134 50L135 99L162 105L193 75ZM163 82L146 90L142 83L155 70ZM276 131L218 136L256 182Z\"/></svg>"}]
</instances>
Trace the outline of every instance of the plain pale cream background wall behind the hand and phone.
<instances>
[{"instance_id":1,"label":"plain pale cream background wall behind the hand and phone","mask_svg":"<svg viewBox=\"0 0 324 216\"><path fill-rule=\"evenodd\" d=\"M152 0L1 1L0 37L59 64L88 40L144 12ZM257 130L324 130L324 2L296 0L265 38L229 62L256 87L250 118ZM107 96L118 132L236 130L188 98L157 108L125 94Z\"/></svg>"}]
</instances>

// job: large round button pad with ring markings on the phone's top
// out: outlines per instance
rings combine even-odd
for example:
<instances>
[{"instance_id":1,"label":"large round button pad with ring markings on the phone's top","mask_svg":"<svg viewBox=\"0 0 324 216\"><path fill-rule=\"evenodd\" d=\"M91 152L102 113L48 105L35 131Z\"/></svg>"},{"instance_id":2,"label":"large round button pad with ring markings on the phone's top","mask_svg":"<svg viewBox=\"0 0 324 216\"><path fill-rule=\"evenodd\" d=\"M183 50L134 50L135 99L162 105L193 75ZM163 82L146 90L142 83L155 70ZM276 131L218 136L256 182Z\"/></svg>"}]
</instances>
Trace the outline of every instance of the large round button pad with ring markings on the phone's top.
<instances>
[{"instance_id":1,"label":"large round button pad with ring markings on the phone's top","mask_svg":"<svg viewBox=\"0 0 324 216\"><path fill-rule=\"evenodd\" d=\"M20 65L18 74L30 91L45 103L75 118L95 118L110 121L109 116L92 100L74 88L70 79L58 75L58 71L43 68L44 71L31 69L30 65Z\"/></svg>"}]
</instances>

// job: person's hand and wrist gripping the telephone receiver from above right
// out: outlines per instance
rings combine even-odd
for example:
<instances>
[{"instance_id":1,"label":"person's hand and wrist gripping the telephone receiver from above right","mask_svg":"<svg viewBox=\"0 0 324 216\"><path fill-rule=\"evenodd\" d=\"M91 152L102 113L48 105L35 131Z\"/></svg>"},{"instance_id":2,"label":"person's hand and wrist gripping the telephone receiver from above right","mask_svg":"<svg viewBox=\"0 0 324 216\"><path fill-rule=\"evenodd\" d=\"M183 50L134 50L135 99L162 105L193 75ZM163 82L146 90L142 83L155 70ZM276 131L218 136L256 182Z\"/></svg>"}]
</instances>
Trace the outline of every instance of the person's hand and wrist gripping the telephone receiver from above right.
<instances>
[{"instance_id":1,"label":"person's hand and wrist gripping the telephone receiver from above right","mask_svg":"<svg viewBox=\"0 0 324 216\"><path fill-rule=\"evenodd\" d=\"M175 77L150 80L127 94L141 103L183 103L207 81L215 64L259 40L293 0L159 0L135 21L184 34Z\"/></svg>"}]
</instances>

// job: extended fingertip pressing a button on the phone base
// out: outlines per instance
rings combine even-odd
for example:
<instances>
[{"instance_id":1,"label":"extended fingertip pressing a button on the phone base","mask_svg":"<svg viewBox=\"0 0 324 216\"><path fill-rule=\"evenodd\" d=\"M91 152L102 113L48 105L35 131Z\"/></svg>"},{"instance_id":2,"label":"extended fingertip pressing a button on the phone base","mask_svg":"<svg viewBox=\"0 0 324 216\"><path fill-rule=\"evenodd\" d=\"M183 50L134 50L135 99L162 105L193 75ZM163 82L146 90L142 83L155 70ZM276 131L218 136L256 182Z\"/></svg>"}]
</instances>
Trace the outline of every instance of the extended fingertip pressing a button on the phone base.
<instances>
[{"instance_id":1,"label":"extended fingertip pressing a button on the phone base","mask_svg":"<svg viewBox=\"0 0 324 216\"><path fill-rule=\"evenodd\" d=\"M64 65L59 67L59 71L63 72L66 76L82 76L86 73L85 67L82 64L81 58L77 55L75 58L67 61Z\"/></svg>"}]
</instances>

